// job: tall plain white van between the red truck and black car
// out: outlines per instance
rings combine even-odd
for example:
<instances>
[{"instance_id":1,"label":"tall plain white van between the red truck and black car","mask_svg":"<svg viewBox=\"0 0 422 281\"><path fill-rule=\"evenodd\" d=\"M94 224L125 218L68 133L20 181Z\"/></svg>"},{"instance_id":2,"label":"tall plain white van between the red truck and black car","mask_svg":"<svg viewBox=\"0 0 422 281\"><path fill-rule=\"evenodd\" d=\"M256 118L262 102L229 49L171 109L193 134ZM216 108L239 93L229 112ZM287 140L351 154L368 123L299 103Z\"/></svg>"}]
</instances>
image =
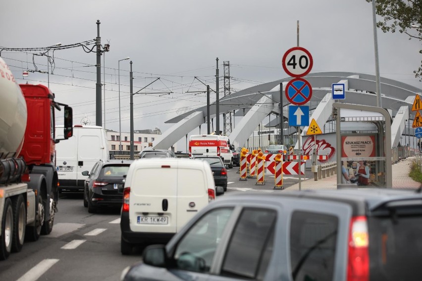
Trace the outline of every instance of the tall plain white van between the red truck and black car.
<instances>
[{"instance_id":1,"label":"tall plain white van between the red truck and black car","mask_svg":"<svg viewBox=\"0 0 422 281\"><path fill-rule=\"evenodd\" d=\"M63 126L56 126L56 134L63 132ZM61 133L63 134L63 133ZM55 145L55 162L59 192L83 191L83 171L91 171L99 160L110 158L106 130L101 126L74 125L73 136Z\"/></svg>"}]
</instances>

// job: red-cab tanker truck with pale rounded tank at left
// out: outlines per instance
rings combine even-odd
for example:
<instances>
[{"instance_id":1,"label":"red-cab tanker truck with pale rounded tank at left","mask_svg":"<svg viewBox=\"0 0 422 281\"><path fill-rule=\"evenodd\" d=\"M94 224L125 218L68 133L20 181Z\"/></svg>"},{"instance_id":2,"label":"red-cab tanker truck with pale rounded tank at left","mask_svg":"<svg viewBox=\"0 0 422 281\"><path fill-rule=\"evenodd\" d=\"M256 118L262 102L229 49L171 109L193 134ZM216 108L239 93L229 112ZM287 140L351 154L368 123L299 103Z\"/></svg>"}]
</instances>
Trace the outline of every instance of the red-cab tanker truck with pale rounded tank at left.
<instances>
[{"instance_id":1,"label":"red-cab tanker truck with pale rounded tank at left","mask_svg":"<svg viewBox=\"0 0 422 281\"><path fill-rule=\"evenodd\" d=\"M64 109L64 110L62 110ZM55 113L72 136L72 108L43 85L17 85L0 57L0 260L53 230L57 210Z\"/></svg>"}]
</instances>

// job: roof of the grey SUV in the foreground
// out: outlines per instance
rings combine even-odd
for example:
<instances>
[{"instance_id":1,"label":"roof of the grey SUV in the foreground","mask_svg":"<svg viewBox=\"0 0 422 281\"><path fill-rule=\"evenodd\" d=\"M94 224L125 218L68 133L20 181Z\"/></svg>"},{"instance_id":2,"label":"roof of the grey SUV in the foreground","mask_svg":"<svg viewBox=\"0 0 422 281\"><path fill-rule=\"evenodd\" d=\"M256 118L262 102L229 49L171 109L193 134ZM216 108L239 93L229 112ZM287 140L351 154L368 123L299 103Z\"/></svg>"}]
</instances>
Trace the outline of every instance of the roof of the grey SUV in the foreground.
<instances>
[{"instance_id":1,"label":"roof of the grey SUV in the foreground","mask_svg":"<svg viewBox=\"0 0 422 281\"><path fill-rule=\"evenodd\" d=\"M281 193L259 193L248 194L245 192L234 192L218 198L218 202L234 201L245 203L246 201L261 201L278 204L283 198L296 199L317 199L349 204L354 215L367 214L367 211L376 211L381 207L388 207L389 204L401 206L422 204L422 193L414 189L387 189L387 188L342 188L342 189L317 189L283 191Z\"/></svg>"}]
</instances>

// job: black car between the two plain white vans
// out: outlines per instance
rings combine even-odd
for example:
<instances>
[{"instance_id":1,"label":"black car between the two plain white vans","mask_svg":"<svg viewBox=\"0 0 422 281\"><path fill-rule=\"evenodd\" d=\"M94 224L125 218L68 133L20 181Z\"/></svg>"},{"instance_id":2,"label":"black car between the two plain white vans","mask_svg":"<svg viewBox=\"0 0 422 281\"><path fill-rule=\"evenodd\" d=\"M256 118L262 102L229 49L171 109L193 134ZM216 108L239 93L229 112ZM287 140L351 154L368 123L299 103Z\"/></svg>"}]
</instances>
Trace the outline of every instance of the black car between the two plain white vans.
<instances>
[{"instance_id":1,"label":"black car between the two plain white vans","mask_svg":"<svg viewBox=\"0 0 422 281\"><path fill-rule=\"evenodd\" d=\"M100 207L121 207L123 201L122 187L125 176L133 160L98 161L91 172L84 171L82 175L89 176L84 186L84 206L88 212L95 213Z\"/></svg>"}]
</instances>

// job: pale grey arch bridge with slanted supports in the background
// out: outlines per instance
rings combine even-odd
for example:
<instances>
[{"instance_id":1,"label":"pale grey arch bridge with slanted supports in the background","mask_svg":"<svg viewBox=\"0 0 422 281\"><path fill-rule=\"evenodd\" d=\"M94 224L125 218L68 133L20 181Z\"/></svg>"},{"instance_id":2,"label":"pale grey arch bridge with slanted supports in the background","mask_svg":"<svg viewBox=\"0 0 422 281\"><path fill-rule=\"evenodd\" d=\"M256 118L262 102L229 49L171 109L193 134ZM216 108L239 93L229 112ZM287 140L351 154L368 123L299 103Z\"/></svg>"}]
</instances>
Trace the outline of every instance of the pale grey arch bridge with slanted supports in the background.
<instances>
[{"instance_id":1,"label":"pale grey arch bridge with slanted supports in the background","mask_svg":"<svg viewBox=\"0 0 422 281\"><path fill-rule=\"evenodd\" d=\"M320 72L311 73L304 77L312 86L311 115L317 124L325 124L331 118L332 103L331 85L336 83L345 84L346 99L342 102L352 104L364 104L376 106L376 85L375 76L351 73L351 72ZM264 83L230 95L219 100L219 114L226 112L242 113L244 116L230 134L230 141L236 147L244 145L252 132L264 120L268 114L279 115L280 92L279 85L285 87L292 77ZM414 136L414 129L406 128L406 120L412 109L416 94L422 90L414 86L398 82L392 79L380 78L381 83L381 105L391 116L391 145L397 146L402 134ZM284 89L283 89L284 95ZM286 120L288 101L283 98L283 116ZM239 111L240 110L240 111ZM210 105L210 118L215 118L215 102ZM188 117L188 118L187 118ZM278 118L277 120L280 120ZM311 119L310 119L311 120ZM185 137L195 128L207 122L207 106L199 107L165 123L175 123L169 130L165 131L160 141L153 143L154 148L166 149ZM266 127L275 127L277 124L267 124ZM412 126L412 125L410 125ZM321 126L322 127L322 126ZM308 128L303 128L302 135L306 134ZM408 132L406 132L408 131ZM323 132L324 133L324 132Z\"/></svg>"}]
</instances>

